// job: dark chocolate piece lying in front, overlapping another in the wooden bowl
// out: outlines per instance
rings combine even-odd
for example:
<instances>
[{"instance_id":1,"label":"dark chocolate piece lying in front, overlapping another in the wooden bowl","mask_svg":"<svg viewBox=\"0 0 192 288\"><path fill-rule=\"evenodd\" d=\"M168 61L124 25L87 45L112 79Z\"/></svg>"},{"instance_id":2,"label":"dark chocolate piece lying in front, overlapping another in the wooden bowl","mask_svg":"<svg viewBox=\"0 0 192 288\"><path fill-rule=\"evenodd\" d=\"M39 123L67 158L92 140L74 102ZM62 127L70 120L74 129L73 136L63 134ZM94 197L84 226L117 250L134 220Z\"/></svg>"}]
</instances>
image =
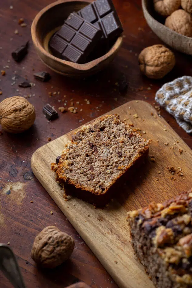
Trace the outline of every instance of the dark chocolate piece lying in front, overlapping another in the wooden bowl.
<instances>
[{"instance_id":1,"label":"dark chocolate piece lying in front, overlapping another in the wooden bowl","mask_svg":"<svg viewBox=\"0 0 192 288\"><path fill-rule=\"evenodd\" d=\"M49 47L56 57L75 63L84 63L102 32L75 12L71 13L61 29L53 35Z\"/></svg>"}]
</instances>

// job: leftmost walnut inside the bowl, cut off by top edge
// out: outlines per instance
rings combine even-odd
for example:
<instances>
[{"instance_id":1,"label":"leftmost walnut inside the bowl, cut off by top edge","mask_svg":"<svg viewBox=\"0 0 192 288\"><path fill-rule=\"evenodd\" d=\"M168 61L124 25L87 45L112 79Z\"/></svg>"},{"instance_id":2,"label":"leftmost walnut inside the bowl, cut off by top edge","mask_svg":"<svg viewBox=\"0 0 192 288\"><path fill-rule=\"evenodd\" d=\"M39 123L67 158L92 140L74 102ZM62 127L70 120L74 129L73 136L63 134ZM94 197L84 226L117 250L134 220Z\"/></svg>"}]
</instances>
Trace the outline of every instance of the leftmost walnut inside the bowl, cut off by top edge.
<instances>
[{"instance_id":1,"label":"leftmost walnut inside the bowl, cut off by top edge","mask_svg":"<svg viewBox=\"0 0 192 288\"><path fill-rule=\"evenodd\" d=\"M154 9L162 16L169 16L179 9L181 0L153 0Z\"/></svg>"}]
</instances>

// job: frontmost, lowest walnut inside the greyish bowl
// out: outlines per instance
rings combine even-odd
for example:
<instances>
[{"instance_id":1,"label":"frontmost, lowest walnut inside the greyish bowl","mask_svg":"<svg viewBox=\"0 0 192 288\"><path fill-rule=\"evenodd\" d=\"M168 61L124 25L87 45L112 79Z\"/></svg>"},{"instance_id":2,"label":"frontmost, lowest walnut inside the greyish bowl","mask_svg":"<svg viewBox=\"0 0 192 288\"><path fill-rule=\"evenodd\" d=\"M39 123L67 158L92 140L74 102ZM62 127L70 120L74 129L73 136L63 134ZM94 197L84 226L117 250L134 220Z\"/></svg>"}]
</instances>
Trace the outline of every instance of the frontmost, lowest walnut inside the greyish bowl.
<instances>
[{"instance_id":1,"label":"frontmost, lowest walnut inside the greyish bowl","mask_svg":"<svg viewBox=\"0 0 192 288\"><path fill-rule=\"evenodd\" d=\"M192 17L188 12L182 9L174 11L167 17L165 26L179 34L192 37Z\"/></svg>"}]
</instances>

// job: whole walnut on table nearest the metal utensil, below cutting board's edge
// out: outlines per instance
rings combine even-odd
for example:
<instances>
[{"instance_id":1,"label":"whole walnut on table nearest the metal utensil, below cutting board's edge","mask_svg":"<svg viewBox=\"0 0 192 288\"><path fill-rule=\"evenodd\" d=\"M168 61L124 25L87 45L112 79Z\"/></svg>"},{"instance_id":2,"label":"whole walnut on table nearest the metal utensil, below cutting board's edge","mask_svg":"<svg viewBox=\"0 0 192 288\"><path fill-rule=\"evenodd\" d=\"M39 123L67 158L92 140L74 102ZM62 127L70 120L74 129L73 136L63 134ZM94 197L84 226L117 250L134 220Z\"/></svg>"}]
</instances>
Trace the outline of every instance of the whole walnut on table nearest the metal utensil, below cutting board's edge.
<instances>
[{"instance_id":1,"label":"whole walnut on table nearest the metal utensil, below cutting board's edge","mask_svg":"<svg viewBox=\"0 0 192 288\"><path fill-rule=\"evenodd\" d=\"M74 239L55 226L44 228L36 237L31 258L45 268L55 268L66 261L75 246Z\"/></svg>"}]
</instances>

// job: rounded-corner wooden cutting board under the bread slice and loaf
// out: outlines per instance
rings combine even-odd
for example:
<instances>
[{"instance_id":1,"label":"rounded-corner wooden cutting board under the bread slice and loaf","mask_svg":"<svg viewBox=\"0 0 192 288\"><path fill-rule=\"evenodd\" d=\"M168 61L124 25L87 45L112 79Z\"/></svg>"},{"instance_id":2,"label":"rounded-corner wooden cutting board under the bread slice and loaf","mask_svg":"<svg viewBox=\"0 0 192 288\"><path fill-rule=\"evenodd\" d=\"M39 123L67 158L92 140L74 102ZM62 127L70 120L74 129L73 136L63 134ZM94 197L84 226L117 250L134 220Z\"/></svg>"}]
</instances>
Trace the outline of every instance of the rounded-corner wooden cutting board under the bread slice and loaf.
<instances>
[{"instance_id":1,"label":"rounded-corner wooden cutting board under the bread slice and loaf","mask_svg":"<svg viewBox=\"0 0 192 288\"><path fill-rule=\"evenodd\" d=\"M136 171L135 177L120 186L118 196L105 209L94 209L93 205L75 198L65 201L62 190L55 182L55 175L50 170L50 163L61 155L75 130L35 151L31 166L37 179L116 283L123 288L152 288L152 282L133 254L126 213L146 206L151 201L162 202L190 189L192 153L147 102L131 101L107 114L113 113L119 114L121 119L127 119L129 124L133 123L134 128L139 127L145 138L153 139L149 156L154 156L155 162L149 157L145 166ZM181 154L179 149L183 149ZM175 166L177 172L181 168L184 175L171 175L168 166ZM171 176L174 178L170 179Z\"/></svg>"}]
</instances>

